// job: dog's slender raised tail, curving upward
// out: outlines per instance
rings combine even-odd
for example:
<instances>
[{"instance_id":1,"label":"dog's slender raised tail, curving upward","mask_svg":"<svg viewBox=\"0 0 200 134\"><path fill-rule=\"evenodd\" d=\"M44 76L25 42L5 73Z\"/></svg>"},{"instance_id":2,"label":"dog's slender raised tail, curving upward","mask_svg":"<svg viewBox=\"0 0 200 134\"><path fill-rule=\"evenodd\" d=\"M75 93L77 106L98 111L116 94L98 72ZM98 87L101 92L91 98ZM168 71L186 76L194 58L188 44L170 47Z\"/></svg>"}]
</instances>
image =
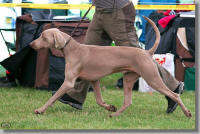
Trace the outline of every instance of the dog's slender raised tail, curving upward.
<instances>
[{"instance_id":1,"label":"dog's slender raised tail, curving upward","mask_svg":"<svg viewBox=\"0 0 200 134\"><path fill-rule=\"evenodd\" d=\"M151 26L153 27L153 30L156 33L156 41L155 41L153 47L151 49L147 50L149 52L149 54L153 55L154 52L156 51L156 49L158 48L159 43L160 43L160 32L159 32L156 24L151 19L149 19L146 16L143 16L143 17L151 24Z\"/></svg>"}]
</instances>

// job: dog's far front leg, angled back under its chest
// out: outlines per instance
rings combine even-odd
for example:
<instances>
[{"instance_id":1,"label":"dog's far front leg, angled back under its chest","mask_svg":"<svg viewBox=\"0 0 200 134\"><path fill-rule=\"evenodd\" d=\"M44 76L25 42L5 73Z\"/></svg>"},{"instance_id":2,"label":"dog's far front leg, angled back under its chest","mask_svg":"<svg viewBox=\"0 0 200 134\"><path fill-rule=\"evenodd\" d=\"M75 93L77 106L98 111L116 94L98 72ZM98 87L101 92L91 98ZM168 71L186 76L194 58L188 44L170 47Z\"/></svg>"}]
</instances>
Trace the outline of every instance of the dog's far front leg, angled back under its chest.
<instances>
[{"instance_id":1,"label":"dog's far front leg, angled back under its chest","mask_svg":"<svg viewBox=\"0 0 200 134\"><path fill-rule=\"evenodd\" d=\"M100 88L99 80L92 81L91 84L92 84L92 87L94 89L94 95L95 95L97 104L100 105L101 107L104 107L108 111L116 112L117 108L115 106L106 104L104 102L102 95L101 95L101 88Z\"/></svg>"}]
</instances>

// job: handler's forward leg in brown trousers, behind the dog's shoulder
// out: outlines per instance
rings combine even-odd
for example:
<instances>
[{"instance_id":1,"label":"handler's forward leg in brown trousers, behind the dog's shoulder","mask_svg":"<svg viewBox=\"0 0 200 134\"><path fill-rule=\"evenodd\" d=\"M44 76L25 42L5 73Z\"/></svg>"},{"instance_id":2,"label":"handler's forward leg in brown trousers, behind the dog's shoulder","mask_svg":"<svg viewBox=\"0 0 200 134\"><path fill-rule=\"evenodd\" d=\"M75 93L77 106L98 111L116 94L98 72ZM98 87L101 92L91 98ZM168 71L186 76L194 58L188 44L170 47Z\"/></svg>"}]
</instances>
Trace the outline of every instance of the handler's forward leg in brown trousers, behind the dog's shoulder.
<instances>
[{"instance_id":1,"label":"handler's forward leg in brown trousers, behind the dog's shoulder","mask_svg":"<svg viewBox=\"0 0 200 134\"><path fill-rule=\"evenodd\" d=\"M110 45L111 44L112 41L103 30L102 23L99 17L101 17L101 14L95 13L93 20L91 21L89 28L87 30L84 44L87 44L87 45ZM88 81L78 79L75 83L75 87L72 89L69 89L67 91L67 94L65 94L59 100L77 109L82 109L82 104L84 103L86 99L89 86L90 86L90 83Z\"/></svg>"}]
</instances>

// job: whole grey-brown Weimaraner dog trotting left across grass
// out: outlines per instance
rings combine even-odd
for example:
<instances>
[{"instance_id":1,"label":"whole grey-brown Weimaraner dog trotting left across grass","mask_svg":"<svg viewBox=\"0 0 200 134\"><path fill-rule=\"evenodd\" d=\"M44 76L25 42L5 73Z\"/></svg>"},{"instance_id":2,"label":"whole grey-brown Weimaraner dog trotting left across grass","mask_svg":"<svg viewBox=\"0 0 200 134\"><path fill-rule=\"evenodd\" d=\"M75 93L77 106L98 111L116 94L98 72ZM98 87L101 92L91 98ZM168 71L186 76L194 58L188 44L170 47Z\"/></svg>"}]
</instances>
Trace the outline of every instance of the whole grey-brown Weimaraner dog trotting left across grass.
<instances>
[{"instance_id":1,"label":"whole grey-brown Weimaraner dog trotting left across grass","mask_svg":"<svg viewBox=\"0 0 200 134\"><path fill-rule=\"evenodd\" d=\"M74 88L77 78L81 78L91 82L97 104L106 110L112 111L113 113L110 117L118 116L132 104L132 87L141 76L152 88L177 102L184 114L187 117L191 117L191 112L184 106L180 95L169 90L159 75L152 55L160 42L160 32L152 20L145 16L144 18L152 25L156 33L154 46L150 50L123 46L80 44L71 36L56 28L42 32L41 36L31 42L30 45L35 50L41 48L60 49L65 57L65 80L58 91L46 104L36 109L35 113L41 114L45 112L67 90ZM102 77L117 72L123 72L124 74L124 104L119 110L116 110L115 106L104 102L99 82Z\"/></svg>"}]
</instances>

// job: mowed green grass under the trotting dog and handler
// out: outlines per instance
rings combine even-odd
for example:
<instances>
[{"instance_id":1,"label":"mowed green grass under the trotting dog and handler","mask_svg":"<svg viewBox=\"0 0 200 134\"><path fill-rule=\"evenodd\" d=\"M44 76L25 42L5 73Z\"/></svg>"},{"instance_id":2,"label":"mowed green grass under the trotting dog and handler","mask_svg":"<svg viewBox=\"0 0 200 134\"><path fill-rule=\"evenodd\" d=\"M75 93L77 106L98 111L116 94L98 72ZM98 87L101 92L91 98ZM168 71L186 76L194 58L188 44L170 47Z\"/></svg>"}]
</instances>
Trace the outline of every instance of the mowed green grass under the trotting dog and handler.
<instances>
[{"instance_id":1,"label":"mowed green grass under the trotting dog and handler","mask_svg":"<svg viewBox=\"0 0 200 134\"><path fill-rule=\"evenodd\" d=\"M115 89L121 74L102 80L102 95L108 104L120 108L123 90ZM96 104L93 92L89 92L83 110L76 110L56 102L44 114L35 115L34 109L42 106L51 97L51 92L32 88L0 88L1 129L42 130L194 130L195 92L185 91L181 96L192 118L185 117L180 107L166 114L167 101L159 93L133 92L133 104L119 117L109 118L111 112ZM2 125L3 124L3 125Z\"/></svg>"}]
</instances>

